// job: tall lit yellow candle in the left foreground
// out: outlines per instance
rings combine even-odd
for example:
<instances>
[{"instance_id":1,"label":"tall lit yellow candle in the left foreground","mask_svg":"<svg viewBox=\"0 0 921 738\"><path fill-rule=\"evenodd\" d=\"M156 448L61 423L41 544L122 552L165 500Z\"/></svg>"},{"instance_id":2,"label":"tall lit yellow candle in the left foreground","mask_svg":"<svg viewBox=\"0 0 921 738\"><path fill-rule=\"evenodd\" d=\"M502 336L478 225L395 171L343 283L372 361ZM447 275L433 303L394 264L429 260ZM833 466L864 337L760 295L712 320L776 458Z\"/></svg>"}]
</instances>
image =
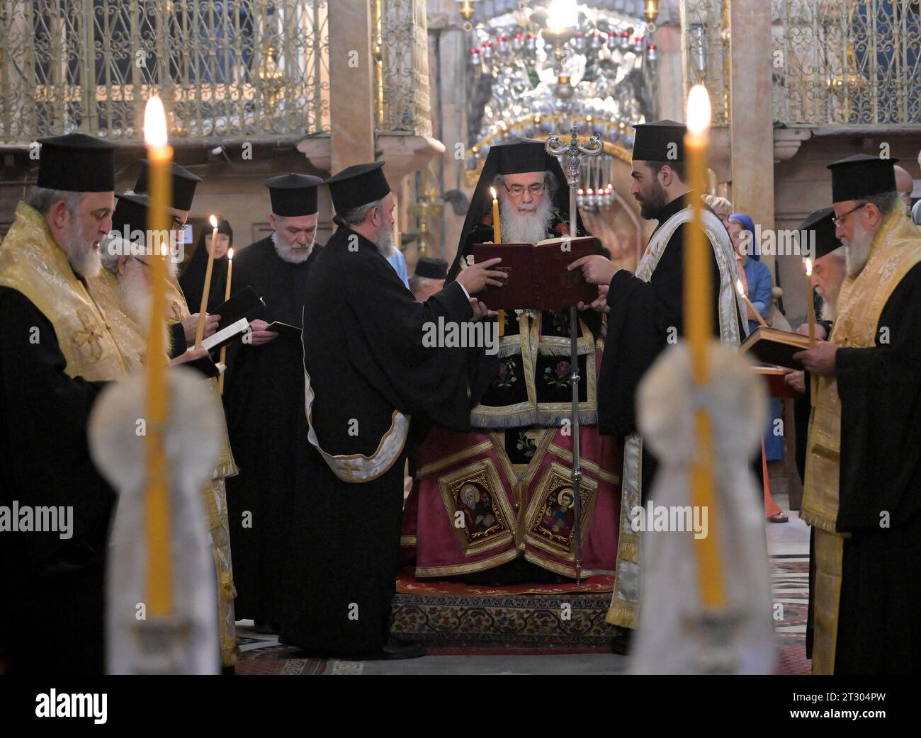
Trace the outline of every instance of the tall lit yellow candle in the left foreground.
<instances>
[{"instance_id":1,"label":"tall lit yellow candle in the left foreground","mask_svg":"<svg viewBox=\"0 0 921 738\"><path fill-rule=\"evenodd\" d=\"M146 543L147 609L163 617L172 610L172 566L170 561L169 478L163 433L167 421L167 365L163 326L167 320L167 245L160 234L169 234L169 205L172 201L172 148L167 143L167 119L160 98L147 100L144 139L149 163L150 202L148 228L153 232L151 260L152 308L147 331L146 361Z\"/></svg>"}]
</instances>

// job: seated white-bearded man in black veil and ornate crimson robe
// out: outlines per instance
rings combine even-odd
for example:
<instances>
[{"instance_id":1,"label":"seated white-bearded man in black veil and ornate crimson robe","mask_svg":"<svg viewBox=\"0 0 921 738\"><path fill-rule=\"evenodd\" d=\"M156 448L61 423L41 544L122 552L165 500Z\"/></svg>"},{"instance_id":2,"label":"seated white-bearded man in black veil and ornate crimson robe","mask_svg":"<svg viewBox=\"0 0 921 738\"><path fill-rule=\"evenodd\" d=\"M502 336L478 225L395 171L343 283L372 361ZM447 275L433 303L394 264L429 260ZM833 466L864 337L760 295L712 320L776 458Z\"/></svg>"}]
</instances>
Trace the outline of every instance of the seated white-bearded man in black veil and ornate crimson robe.
<instances>
[{"instance_id":1,"label":"seated white-bearded man in black veil and ornate crimson robe","mask_svg":"<svg viewBox=\"0 0 921 738\"><path fill-rule=\"evenodd\" d=\"M486 156L461 231L449 282L473 263L473 244L493 241L499 196L502 240L536 243L568 235L569 187L541 141L513 138ZM577 227L579 236L581 218ZM603 257L599 257L604 259ZM484 358L473 432L437 426L423 445L403 541L420 577L516 584L575 578L570 311L500 313L498 354ZM612 573L617 552L620 452L598 434L600 316L579 320L584 573Z\"/></svg>"}]
</instances>

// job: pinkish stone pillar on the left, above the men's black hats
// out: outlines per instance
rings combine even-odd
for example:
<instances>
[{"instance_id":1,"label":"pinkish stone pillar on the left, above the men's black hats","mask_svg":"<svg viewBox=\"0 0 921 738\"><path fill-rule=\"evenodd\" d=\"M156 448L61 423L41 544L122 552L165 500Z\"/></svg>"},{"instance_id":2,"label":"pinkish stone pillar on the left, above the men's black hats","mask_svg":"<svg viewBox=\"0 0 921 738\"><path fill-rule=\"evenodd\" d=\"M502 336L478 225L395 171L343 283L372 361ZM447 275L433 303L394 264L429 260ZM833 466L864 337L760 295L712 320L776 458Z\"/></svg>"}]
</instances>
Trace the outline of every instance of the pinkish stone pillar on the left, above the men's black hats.
<instances>
[{"instance_id":1,"label":"pinkish stone pillar on the left, above the men's black hats","mask_svg":"<svg viewBox=\"0 0 921 738\"><path fill-rule=\"evenodd\" d=\"M332 173L374 161L374 58L367 2L330 3Z\"/></svg>"}]
</instances>

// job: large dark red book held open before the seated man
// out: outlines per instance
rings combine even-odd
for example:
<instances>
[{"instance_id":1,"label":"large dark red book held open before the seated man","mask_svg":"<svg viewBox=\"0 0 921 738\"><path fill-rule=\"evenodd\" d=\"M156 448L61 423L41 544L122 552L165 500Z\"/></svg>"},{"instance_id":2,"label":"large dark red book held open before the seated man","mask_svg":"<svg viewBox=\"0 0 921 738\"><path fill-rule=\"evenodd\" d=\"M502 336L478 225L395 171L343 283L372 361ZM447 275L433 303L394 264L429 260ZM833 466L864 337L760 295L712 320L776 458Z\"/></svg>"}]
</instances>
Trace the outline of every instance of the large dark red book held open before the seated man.
<instances>
[{"instance_id":1,"label":"large dark red book held open before the seated man","mask_svg":"<svg viewBox=\"0 0 921 738\"><path fill-rule=\"evenodd\" d=\"M476 297L490 310L556 310L588 305L598 297L582 271L566 267L576 259L599 253L593 236L548 238L536 244L473 244L473 261L500 257L495 269L505 271L507 282L486 287Z\"/></svg>"}]
</instances>

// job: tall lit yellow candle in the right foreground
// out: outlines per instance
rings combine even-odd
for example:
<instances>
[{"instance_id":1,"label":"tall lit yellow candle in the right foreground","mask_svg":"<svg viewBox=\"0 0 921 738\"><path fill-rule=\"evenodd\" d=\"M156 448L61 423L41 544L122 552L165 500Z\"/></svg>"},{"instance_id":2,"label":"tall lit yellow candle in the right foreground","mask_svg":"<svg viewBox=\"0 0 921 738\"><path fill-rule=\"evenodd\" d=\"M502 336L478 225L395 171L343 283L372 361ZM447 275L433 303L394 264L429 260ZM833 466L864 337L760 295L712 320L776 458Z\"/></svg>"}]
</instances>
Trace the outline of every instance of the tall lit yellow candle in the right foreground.
<instances>
[{"instance_id":1,"label":"tall lit yellow candle in the right foreground","mask_svg":"<svg viewBox=\"0 0 921 738\"><path fill-rule=\"evenodd\" d=\"M701 194L706 188L706 150L710 129L710 98L703 85L694 85L688 95L688 132L684 137L685 169L691 187L692 220L684 244L684 334L691 351L694 384L709 378L707 347L713 321L710 277L712 248L703 228ZM694 415L697 455L691 468L692 504L708 511L709 535L694 541L697 582L705 609L721 610L727 605L723 571L719 562L718 510L713 479L713 429L705 409Z\"/></svg>"}]
</instances>

